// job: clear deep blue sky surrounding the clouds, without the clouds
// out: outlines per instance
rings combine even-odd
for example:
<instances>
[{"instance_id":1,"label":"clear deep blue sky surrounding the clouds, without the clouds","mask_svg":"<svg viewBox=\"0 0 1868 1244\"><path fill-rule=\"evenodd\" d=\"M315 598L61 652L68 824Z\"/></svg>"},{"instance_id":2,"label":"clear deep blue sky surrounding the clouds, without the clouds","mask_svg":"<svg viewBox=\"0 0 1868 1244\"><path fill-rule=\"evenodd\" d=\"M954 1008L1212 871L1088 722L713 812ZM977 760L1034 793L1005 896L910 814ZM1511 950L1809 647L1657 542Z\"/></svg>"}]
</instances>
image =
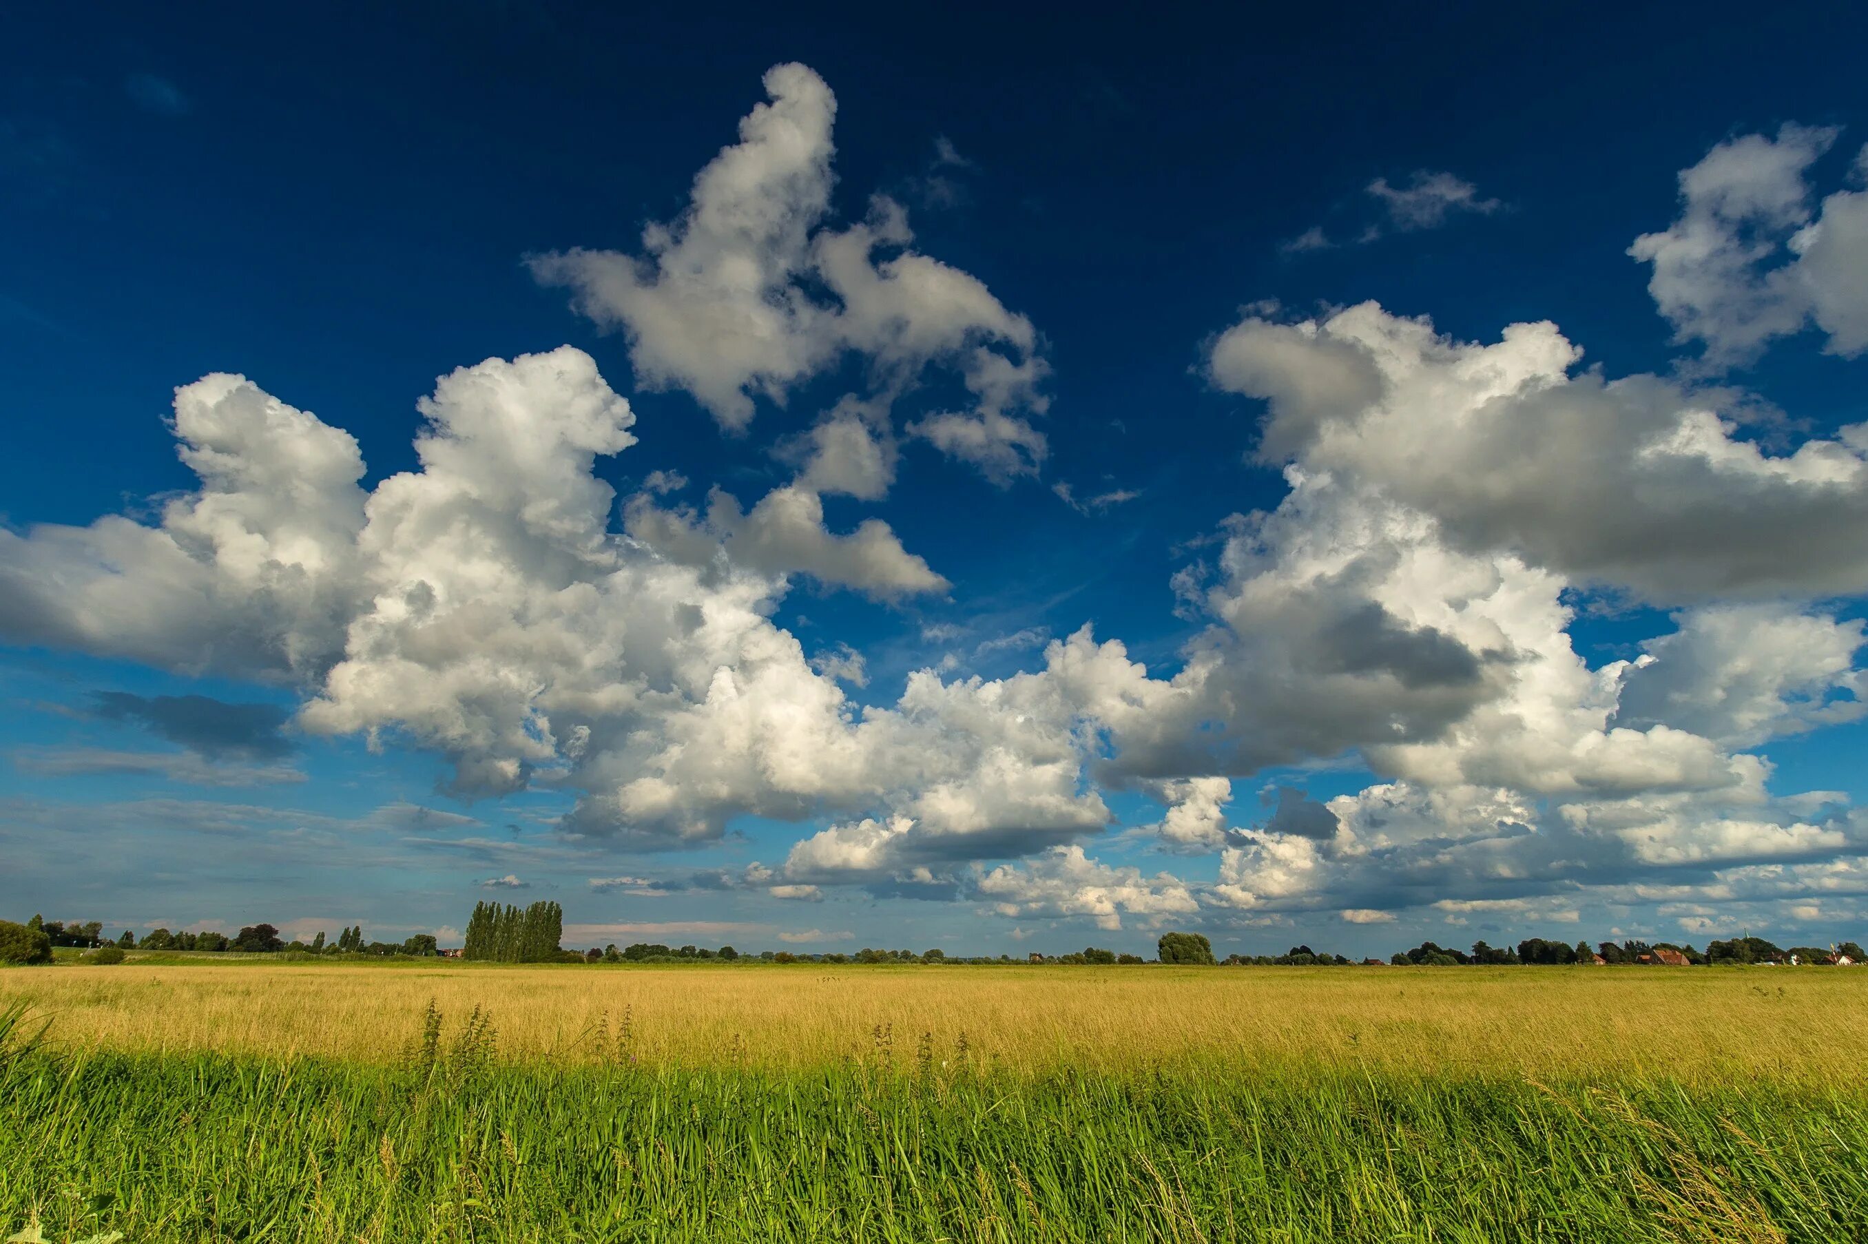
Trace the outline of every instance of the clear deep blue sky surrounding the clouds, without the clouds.
<instances>
[{"instance_id":1,"label":"clear deep blue sky surrounding the clouds, without the clouds","mask_svg":"<svg viewBox=\"0 0 1868 1244\"><path fill-rule=\"evenodd\" d=\"M641 443L600 474L624 491L678 469L693 495L717 482L751 504L786 478L773 437L807 426L839 377L786 409L762 402L745 437L723 433L684 392L635 390L624 340L573 316L521 258L633 250L644 220L680 213L770 65L816 69L839 99L841 217L859 217L870 192L899 196L917 248L1029 316L1054 368L1042 482L1001 491L927 445L904 450L885 514L953 579L949 601L885 607L809 585L786 598L781 620L807 650L829 637L865 646L874 700L893 700L927 659L925 622L964 622L979 639L1093 622L1173 669L1194 629L1171 613L1169 575L1192 557L1175 547L1283 491L1246 461L1255 403L1197 372L1201 342L1242 304L1377 299L1463 340L1552 319L1584 364L1664 372L1679 349L1625 248L1672 219L1676 170L1734 133L1851 125L1814 177L1834 185L1868 138L1868 11L1842 4L811 17L73 4L17 6L4 32L0 519L15 529L140 512L189 488L163 418L172 389L205 372L241 372L349 430L374 482L413 465L415 402L439 374L562 342L590 351L637 411ZM969 161L940 170L953 194L927 189L938 138ZM1379 219L1371 179L1423 168L1506 207L1280 250L1317 224L1352 237ZM1859 374L1793 347L1735 379L1823 430L1868 417ZM1054 482L1141 497L1083 516ZM870 512L828 506L844 529ZM1575 633L1599 663L1655 629L1618 615ZM275 695L9 659L11 695L41 682L73 702L95 689ZM979 671L1035 659L1007 650ZM39 728L9 717L7 742ZM1793 768L1814 749L1806 768L1829 773L1857 738L1773 755ZM381 764L409 798L433 783L432 760Z\"/></svg>"}]
</instances>

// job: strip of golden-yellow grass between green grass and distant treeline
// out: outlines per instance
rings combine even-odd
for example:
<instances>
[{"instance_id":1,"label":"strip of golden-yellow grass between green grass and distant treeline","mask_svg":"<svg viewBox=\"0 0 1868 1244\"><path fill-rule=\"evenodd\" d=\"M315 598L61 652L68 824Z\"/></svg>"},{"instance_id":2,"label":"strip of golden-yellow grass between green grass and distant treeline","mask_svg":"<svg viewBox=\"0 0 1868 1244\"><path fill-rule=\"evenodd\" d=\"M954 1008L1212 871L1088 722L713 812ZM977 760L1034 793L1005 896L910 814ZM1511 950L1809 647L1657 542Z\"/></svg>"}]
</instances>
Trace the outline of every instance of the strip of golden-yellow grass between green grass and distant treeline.
<instances>
[{"instance_id":1,"label":"strip of golden-yellow grass between green grass and distant treeline","mask_svg":"<svg viewBox=\"0 0 1868 1244\"><path fill-rule=\"evenodd\" d=\"M1532 1078L1821 1081L1868 1063L1868 971L1614 968L121 966L0 971L62 1046L396 1059L433 999L488 1007L502 1057L592 1057L628 1012L644 1063L874 1057ZM1851 1074L1851 1072L1849 1072Z\"/></svg>"}]
</instances>

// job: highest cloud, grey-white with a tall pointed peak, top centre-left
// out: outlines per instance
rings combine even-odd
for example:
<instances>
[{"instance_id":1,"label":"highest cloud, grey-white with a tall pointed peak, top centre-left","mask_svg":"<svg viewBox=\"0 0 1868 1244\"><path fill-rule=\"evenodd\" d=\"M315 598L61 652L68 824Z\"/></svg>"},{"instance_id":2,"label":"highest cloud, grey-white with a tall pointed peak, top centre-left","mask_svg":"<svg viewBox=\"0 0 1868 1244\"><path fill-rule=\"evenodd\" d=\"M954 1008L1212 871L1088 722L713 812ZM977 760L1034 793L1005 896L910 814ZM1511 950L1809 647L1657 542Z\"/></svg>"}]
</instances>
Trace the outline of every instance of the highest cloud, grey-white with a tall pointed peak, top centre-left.
<instances>
[{"instance_id":1,"label":"highest cloud, grey-white with a tall pointed peak, top centre-left","mask_svg":"<svg viewBox=\"0 0 1868 1244\"><path fill-rule=\"evenodd\" d=\"M783 403L856 353L880 394L930 364L958 368L981 409L938 418L986 431L934 437L941 448L998 469L988 441L1040 446L1007 415L1031 403L1042 375L1031 323L975 276L912 250L906 211L887 198L863 222L828 224L837 99L805 65L773 67L766 93L740 121L740 142L695 177L687 211L643 230L641 254L534 256L536 276L628 334L639 383L686 389L730 428L753 418L755 398Z\"/></svg>"}]
</instances>

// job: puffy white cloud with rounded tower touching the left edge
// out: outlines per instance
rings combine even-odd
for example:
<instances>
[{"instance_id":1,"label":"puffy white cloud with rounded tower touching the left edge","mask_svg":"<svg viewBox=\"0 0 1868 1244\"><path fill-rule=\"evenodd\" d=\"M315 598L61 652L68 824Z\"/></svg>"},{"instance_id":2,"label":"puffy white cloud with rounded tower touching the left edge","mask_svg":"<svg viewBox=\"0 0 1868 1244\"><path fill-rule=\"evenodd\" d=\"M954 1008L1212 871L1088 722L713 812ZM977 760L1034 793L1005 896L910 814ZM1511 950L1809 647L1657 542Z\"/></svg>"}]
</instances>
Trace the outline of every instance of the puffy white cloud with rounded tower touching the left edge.
<instances>
[{"instance_id":1,"label":"puffy white cloud with rounded tower touching the left edge","mask_svg":"<svg viewBox=\"0 0 1868 1244\"><path fill-rule=\"evenodd\" d=\"M202 486L159 525L0 530L0 635L187 672L316 676L361 592L357 441L222 374L176 390L174 431Z\"/></svg>"}]
</instances>

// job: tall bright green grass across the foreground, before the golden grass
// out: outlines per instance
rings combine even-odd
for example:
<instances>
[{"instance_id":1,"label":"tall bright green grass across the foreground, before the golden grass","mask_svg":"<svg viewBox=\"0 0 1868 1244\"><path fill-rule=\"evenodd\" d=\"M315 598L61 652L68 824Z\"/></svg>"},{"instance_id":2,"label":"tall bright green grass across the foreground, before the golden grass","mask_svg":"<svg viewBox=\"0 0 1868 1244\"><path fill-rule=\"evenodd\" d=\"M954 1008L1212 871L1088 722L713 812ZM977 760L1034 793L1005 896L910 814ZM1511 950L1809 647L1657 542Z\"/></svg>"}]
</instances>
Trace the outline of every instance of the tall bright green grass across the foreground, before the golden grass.
<instances>
[{"instance_id":1,"label":"tall bright green grass across the foreground, before the golden grass","mask_svg":"<svg viewBox=\"0 0 1868 1244\"><path fill-rule=\"evenodd\" d=\"M15 1035L21 1014L0 1022ZM47 1240L1861 1240L1868 1095L1459 1074L394 1065L0 1040L0 1231ZM945 1067L943 1067L945 1063Z\"/></svg>"}]
</instances>

